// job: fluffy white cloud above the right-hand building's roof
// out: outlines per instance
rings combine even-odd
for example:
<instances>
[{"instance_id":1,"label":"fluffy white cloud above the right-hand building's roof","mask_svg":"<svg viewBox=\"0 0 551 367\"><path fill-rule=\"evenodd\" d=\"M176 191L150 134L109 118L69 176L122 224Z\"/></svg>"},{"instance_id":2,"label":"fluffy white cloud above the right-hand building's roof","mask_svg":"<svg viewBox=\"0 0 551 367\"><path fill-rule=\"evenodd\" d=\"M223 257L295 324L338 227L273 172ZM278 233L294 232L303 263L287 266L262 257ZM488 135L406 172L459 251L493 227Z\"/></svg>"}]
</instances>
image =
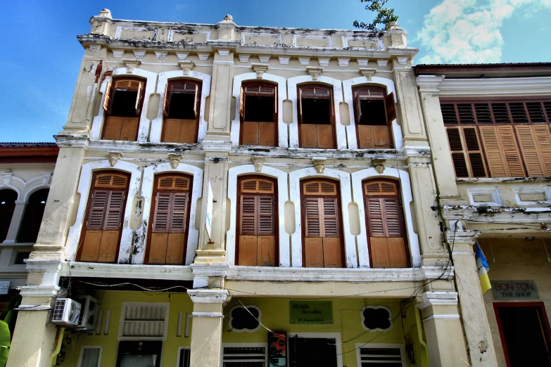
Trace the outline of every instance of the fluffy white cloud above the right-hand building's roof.
<instances>
[{"instance_id":1,"label":"fluffy white cloud above the right-hand building's roof","mask_svg":"<svg viewBox=\"0 0 551 367\"><path fill-rule=\"evenodd\" d=\"M538 6L551 8L551 0L443 0L417 34L429 53L419 63L499 63L504 20L531 14Z\"/></svg>"}]
</instances>

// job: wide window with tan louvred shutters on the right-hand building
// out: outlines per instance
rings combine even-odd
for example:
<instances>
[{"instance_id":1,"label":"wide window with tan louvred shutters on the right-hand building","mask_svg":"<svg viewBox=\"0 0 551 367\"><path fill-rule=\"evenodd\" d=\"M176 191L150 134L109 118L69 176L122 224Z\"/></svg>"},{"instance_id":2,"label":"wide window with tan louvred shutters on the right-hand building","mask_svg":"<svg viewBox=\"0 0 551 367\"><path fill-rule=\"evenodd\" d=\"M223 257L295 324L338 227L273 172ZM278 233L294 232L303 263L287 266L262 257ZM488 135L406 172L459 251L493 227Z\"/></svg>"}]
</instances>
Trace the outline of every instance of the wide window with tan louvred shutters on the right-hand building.
<instances>
[{"instance_id":1,"label":"wide window with tan louvred shutters on the right-hand building","mask_svg":"<svg viewBox=\"0 0 551 367\"><path fill-rule=\"evenodd\" d=\"M457 177L551 176L551 101L441 101Z\"/></svg>"}]
</instances>

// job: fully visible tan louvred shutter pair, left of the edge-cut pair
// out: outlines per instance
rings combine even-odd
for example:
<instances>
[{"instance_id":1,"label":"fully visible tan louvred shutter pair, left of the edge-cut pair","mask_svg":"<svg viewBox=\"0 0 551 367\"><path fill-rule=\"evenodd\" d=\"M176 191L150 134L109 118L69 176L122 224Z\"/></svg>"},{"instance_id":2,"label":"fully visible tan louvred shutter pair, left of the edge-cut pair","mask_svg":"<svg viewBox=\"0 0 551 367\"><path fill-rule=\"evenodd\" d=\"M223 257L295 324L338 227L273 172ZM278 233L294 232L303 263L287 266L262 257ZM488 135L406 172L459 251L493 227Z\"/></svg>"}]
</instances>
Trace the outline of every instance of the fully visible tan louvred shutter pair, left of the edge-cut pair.
<instances>
[{"instance_id":1,"label":"fully visible tan louvred shutter pair, left of the edge-cut pair","mask_svg":"<svg viewBox=\"0 0 551 367\"><path fill-rule=\"evenodd\" d=\"M481 139L493 177L524 177L524 169L512 125L481 126Z\"/></svg>"}]
</instances>

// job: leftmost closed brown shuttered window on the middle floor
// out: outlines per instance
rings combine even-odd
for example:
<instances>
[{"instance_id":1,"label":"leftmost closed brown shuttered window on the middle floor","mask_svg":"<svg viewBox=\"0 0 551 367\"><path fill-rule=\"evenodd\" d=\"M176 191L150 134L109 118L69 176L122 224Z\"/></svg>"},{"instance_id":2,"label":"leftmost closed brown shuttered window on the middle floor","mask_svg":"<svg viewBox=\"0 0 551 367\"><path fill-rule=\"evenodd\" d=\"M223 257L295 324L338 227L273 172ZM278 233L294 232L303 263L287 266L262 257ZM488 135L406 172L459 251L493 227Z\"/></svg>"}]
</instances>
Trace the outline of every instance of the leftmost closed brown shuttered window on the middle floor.
<instances>
[{"instance_id":1,"label":"leftmost closed brown shuttered window on the middle floor","mask_svg":"<svg viewBox=\"0 0 551 367\"><path fill-rule=\"evenodd\" d=\"M92 176L77 261L116 262L129 177L115 171L96 172Z\"/></svg>"}]
</instances>

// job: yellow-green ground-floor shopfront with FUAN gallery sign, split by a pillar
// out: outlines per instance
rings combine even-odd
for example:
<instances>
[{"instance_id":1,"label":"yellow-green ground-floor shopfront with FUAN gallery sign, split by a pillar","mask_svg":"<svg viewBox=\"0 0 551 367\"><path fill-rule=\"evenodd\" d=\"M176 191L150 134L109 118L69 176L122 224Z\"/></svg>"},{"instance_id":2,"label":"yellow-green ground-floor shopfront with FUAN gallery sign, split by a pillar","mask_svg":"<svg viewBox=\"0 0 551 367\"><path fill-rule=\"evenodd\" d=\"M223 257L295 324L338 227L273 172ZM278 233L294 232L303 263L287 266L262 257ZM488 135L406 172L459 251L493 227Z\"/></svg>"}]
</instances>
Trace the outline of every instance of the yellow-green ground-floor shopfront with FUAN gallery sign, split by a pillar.
<instances>
[{"instance_id":1,"label":"yellow-green ground-floor shopfront with FUAN gallery sign, split by a pillar","mask_svg":"<svg viewBox=\"0 0 551 367\"><path fill-rule=\"evenodd\" d=\"M89 295L101 304L96 326L65 328L59 365L189 366L198 316L186 293ZM232 297L222 311L220 366L429 366L417 312L400 298Z\"/></svg>"}]
</instances>

